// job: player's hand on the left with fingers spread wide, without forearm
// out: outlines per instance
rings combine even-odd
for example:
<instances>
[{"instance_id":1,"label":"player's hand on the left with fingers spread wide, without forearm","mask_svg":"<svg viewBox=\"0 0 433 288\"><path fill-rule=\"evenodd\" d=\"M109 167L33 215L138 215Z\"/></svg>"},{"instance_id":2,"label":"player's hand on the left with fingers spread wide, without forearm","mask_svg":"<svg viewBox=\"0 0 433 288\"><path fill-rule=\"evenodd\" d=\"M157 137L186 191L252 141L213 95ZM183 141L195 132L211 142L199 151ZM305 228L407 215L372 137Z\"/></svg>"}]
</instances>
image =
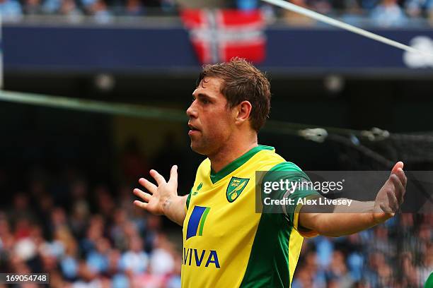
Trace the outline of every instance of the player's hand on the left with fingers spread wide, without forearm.
<instances>
[{"instance_id":1,"label":"player's hand on the left with fingers spread wide, without forearm","mask_svg":"<svg viewBox=\"0 0 433 288\"><path fill-rule=\"evenodd\" d=\"M178 196L178 167L176 165L171 167L170 179L168 181L155 170L151 170L150 175L155 179L157 185L144 178L140 178L139 184L144 186L149 193L135 188L134 194L143 201L134 200L134 205L152 214L163 215L171 199Z\"/></svg>"}]
</instances>

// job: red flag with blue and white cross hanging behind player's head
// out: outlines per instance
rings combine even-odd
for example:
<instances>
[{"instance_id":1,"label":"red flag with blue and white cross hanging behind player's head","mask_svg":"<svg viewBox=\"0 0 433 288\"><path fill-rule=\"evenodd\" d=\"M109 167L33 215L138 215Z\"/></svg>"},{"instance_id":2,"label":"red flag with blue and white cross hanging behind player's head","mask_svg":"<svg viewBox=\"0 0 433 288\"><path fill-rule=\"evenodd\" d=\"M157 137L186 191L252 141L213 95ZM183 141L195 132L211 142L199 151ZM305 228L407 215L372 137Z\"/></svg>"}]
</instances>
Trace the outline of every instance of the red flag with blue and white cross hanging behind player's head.
<instances>
[{"instance_id":1,"label":"red flag with blue and white cross hanging behind player's head","mask_svg":"<svg viewBox=\"0 0 433 288\"><path fill-rule=\"evenodd\" d=\"M255 63L265 59L265 20L260 11L187 9L181 17L202 64L234 56Z\"/></svg>"}]
</instances>

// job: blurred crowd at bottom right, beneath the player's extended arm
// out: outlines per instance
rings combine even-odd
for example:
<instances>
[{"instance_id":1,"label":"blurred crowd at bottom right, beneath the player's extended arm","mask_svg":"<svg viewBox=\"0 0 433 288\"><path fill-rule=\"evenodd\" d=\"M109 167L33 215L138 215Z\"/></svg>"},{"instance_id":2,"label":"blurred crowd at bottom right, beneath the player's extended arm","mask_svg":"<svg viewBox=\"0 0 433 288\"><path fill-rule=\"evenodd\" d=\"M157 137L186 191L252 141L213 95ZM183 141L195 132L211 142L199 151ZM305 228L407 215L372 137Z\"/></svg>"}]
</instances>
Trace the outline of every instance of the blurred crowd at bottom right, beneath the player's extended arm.
<instances>
[{"instance_id":1,"label":"blurred crowd at bottom right, beneath the player's extended arm","mask_svg":"<svg viewBox=\"0 0 433 288\"><path fill-rule=\"evenodd\" d=\"M309 239L293 288L417 288L433 272L433 215L403 213L373 229Z\"/></svg>"}]
</instances>

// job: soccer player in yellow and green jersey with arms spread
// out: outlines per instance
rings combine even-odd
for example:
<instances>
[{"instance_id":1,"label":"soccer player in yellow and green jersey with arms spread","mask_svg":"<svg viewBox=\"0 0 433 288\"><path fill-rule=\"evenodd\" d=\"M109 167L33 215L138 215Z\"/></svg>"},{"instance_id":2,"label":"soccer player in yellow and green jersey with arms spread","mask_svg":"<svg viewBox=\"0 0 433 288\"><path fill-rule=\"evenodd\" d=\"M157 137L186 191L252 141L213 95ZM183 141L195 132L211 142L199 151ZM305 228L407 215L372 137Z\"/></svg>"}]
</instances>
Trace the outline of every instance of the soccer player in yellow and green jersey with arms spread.
<instances>
[{"instance_id":1,"label":"soccer player in yellow and green jersey with arms spread","mask_svg":"<svg viewBox=\"0 0 433 288\"><path fill-rule=\"evenodd\" d=\"M182 287L290 287L304 236L356 233L393 217L403 203L407 179L398 162L375 201L354 201L358 213L340 206L306 212L296 203L320 198L313 190L277 192L294 203L282 213L255 212L256 171L308 181L274 148L258 145L270 111L269 81L248 61L233 59L204 66L192 97L186 112L191 148L207 159L189 195L178 196L176 166L168 181L151 170L156 184L142 178L146 192L134 189L142 199L135 205L183 226Z\"/></svg>"}]
</instances>

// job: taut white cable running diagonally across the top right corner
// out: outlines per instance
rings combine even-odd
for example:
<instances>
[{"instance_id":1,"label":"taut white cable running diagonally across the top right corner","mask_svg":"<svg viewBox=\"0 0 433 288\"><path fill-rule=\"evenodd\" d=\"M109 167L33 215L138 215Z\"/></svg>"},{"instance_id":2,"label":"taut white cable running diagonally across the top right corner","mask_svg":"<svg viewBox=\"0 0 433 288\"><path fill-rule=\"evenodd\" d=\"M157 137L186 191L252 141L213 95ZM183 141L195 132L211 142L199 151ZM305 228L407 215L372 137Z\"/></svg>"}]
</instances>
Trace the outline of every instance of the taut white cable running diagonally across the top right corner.
<instances>
[{"instance_id":1,"label":"taut white cable running diagonally across the top right corner","mask_svg":"<svg viewBox=\"0 0 433 288\"><path fill-rule=\"evenodd\" d=\"M287 2L287 1L283 1L283 0L262 0L262 1L265 1L265 2L267 2L269 4L272 4L272 5L275 5L275 6L279 6L281 8L284 8L284 9L287 9L287 10L290 10L290 11L293 11L293 12L296 12L296 13L300 13L300 14L302 14L304 16L316 19L318 21L327 23L329 25L332 25L332 26L335 26L335 27L338 27L338 28L342 28L344 30L349 30L349 31L354 32L356 34L368 37L368 38L370 38L372 40L376 40L376 41L379 41L379 42L391 45L393 47L397 47L397 48L403 49L403 50L408 51L408 52L419 53L419 54L423 54L424 56L433 57L433 54L429 54L427 52L415 49L415 48L410 47L408 45L401 44L400 42L388 39L388 38L380 36L380 35L376 35L374 33L368 32L368 31L366 31L364 29L354 27L354 26L352 26L350 24L341 22L339 20L335 20L335 19L330 18L328 16L324 16L324 15L322 15L320 13L311 11L311 10L309 10L307 8L303 8L303 7L297 6L295 4L291 4L291 3Z\"/></svg>"}]
</instances>

